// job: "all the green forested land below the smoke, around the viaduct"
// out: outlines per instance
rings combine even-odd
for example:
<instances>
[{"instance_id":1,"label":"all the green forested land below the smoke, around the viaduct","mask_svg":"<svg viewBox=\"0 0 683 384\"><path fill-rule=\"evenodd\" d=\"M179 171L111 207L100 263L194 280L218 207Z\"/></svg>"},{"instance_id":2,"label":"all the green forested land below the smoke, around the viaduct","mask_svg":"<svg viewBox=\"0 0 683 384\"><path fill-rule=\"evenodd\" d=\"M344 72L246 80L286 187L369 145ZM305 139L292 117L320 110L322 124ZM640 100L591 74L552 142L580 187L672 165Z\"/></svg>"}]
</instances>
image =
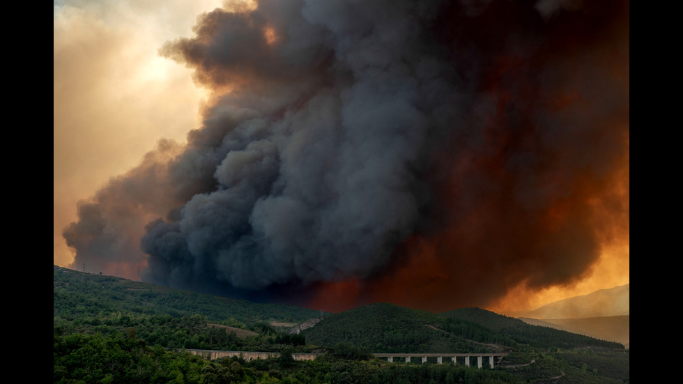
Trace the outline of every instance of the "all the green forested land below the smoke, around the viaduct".
<instances>
[{"instance_id":1,"label":"all the green forested land below the smoke, around the viaduct","mask_svg":"<svg viewBox=\"0 0 683 384\"><path fill-rule=\"evenodd\" d=\"M378 303L321 316L54 266L54 383L628 383L621 344L526 325L483 309L431 314ZM206 360L190 349L269 351ZM381 352L504 352L484 365L415 364ZM321 353L296 361L292 353Z\"/></svg>"}]
</instances>

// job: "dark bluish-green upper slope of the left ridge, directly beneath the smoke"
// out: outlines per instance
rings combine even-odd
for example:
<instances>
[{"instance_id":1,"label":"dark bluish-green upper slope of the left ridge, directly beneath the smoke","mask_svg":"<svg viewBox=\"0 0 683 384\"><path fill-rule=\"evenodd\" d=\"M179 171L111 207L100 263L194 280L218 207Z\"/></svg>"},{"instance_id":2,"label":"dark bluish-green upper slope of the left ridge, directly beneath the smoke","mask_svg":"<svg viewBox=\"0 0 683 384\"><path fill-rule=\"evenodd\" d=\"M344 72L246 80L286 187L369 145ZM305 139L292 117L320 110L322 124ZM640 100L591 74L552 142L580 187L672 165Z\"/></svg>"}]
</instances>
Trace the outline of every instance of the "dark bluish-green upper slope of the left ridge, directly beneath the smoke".
<instances>
[{"instance_id":1,"label":"dark bluish-green upper slope of the left ridge, directly beneath the smoke","mask_svg":"<svg viewBox=\"0 0 683 384\"><path fill-rule=\"evenodd\" d=\"M174 318L201 314L209 321L230 318L238 323L300 323L320 316L293 305L259 304L219 298L119 277L93 275L54 266L54 316L74 320L83 316L109 316L117 312L169 315Z\"/></svg>"}]
</instances>

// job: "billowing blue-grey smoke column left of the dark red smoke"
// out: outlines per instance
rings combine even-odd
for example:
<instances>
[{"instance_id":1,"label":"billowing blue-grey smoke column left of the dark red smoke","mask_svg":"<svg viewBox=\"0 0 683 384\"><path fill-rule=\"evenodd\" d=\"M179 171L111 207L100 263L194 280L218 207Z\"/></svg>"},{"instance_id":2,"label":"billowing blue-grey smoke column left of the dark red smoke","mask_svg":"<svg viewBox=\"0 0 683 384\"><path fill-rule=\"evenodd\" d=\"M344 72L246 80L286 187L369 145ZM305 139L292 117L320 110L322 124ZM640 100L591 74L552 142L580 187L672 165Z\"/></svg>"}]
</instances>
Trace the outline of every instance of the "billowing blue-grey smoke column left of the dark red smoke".
<instances>
[{"instance_id":1,"label":"billowing blue-grey smoke column left of the dark red smoke","mask_svg":"<svg viewBox=\"0 0 683 384\"><path fill-rule=\"evenodd\" d=\"M150 226L152 276L264 289L381 268L415 229L430 115L454 98L416 33L430 18L413 3L264 1L164 46L201 83L237 89L178 162L206 164L213 185Z\"/></svg>"}]
</instances>

